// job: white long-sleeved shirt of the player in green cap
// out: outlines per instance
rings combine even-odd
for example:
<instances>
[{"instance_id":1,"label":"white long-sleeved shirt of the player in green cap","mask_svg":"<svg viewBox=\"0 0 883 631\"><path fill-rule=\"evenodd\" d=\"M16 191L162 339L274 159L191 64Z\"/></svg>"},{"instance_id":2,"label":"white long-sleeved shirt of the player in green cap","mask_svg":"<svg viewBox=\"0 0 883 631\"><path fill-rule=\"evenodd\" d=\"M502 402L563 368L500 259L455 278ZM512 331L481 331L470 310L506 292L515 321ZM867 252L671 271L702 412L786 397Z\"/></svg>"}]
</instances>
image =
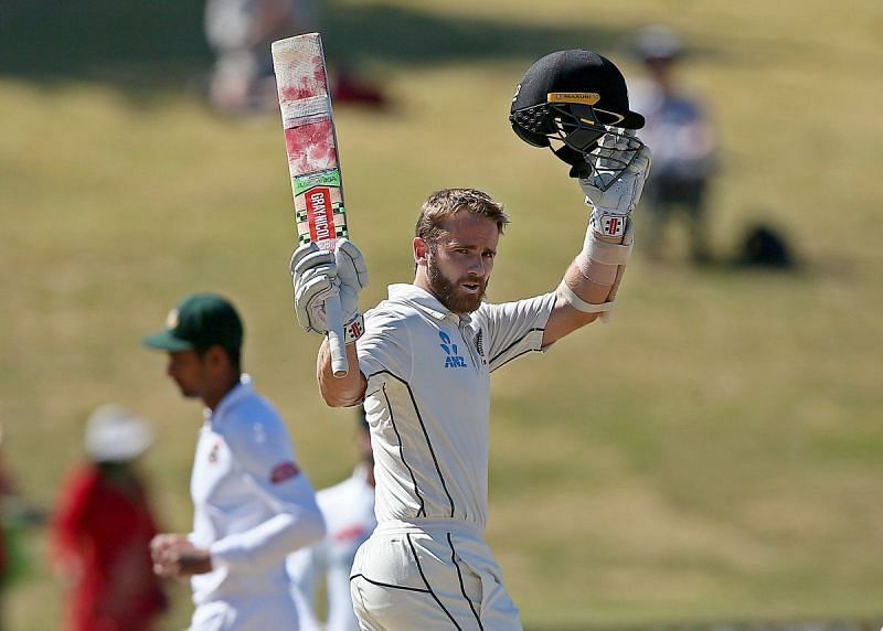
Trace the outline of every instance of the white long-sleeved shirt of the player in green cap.
<instances>
[{"instance_id":1,"label":"white long-sleeved shirt of the player in green cap","mask_svg":"<svg viewBox=\"0 0 883 631\"><path fill-rule=\"evenodd\" d=\"M205 410L190 492L194 517L189 538L210 550L214 567L191 578L194 621L223 602L237 603L235 623L219 628L252 629L240 605L268 598L290 602L285 559L319 541L325 526L312 486L296 464L288 430L247 375L214 413ZM285 609L284 603L274 606ZM294 621L279 620L275 628L297 628L297 613L292 616Z\"/></svg>"}]
</instances>

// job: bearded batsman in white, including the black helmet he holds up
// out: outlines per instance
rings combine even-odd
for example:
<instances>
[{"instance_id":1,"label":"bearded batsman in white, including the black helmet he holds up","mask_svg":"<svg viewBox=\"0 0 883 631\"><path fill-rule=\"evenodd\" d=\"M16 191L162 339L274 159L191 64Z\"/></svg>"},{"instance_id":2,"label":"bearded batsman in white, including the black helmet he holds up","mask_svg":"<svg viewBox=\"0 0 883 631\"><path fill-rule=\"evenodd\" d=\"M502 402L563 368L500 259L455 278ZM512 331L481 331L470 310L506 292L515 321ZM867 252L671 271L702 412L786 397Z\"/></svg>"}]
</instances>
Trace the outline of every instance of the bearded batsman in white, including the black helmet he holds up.
<instances>
[{"instance_id":1,"label":"bearded batsman in white, including the black helmet he holds up","mask_svg":"<svg viewBox=\"0 0 883 631\"><path fill-rule=\"evenodd\" d=\"M341 239L337 255L301 246L291 258L298 321L325 333L322 303L338 293L349 361L360 368L336 379L322 343L322 397L364 402L371 427L379 524L351 574L364 630L521 629L483 541L490 373L608 313L631 250L650 154L634 137L643 119L629 110L616 66L587 51L549 55L519 85L510 119L531 145L562 143L555 154L592 207L583 249L554 291L482 301L509 216L472 189L426 200L414 281L392 285L364 318L366 269L352 243Z\"/></svg>"}]
</instances>

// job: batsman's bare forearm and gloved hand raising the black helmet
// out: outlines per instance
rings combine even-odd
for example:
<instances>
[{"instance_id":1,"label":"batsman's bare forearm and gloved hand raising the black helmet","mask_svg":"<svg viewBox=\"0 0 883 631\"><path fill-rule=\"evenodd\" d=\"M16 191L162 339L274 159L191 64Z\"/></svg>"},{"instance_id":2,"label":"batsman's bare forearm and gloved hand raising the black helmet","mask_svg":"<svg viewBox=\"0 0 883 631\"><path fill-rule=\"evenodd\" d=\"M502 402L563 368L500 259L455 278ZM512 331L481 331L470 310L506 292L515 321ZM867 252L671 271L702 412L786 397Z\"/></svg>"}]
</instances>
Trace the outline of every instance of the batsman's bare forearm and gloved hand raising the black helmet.
<instances>
[{"instance_id":1,"label":"batsman's bare forearm and gloved hand raising the black helmet","mask_svg":"<svg viewBox=\"0 0 883 631\"><path fill-rule=\"evenodd\" d=\"M579 186L592 207L583 249L557 288L557 300L543 333L543 345L606 319L631 253L631 212L650 169L650 150L631 135L605 135L588 178ZM608 160L629 160L621 171L605 169Z\"/></svg>"}]
</instances>

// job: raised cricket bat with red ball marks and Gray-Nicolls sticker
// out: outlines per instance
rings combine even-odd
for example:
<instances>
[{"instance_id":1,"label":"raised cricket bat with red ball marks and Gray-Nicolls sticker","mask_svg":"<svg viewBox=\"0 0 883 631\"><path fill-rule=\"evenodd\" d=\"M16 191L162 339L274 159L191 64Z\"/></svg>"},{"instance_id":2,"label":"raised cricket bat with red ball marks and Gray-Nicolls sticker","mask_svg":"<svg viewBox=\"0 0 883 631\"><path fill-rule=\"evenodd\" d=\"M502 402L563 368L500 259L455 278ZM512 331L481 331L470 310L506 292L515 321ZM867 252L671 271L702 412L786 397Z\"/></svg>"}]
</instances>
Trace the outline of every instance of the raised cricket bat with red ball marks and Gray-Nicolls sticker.
<instances>
[{"instance_id":1,"label":"raised cricket bat with red ball marks and Gray-Nicolls sticker","mask_svg":"<svg viewBox=\"0 0 883 631\"><path fill-rule=\"evenodd\" d=\"M272 53L298 239L333 252L337 238L348 232L322 39L307 33L278 40ZM349 365L337 296L326 300L325 312L331 370L343 377Z\"/></svg>"}]
</instances>

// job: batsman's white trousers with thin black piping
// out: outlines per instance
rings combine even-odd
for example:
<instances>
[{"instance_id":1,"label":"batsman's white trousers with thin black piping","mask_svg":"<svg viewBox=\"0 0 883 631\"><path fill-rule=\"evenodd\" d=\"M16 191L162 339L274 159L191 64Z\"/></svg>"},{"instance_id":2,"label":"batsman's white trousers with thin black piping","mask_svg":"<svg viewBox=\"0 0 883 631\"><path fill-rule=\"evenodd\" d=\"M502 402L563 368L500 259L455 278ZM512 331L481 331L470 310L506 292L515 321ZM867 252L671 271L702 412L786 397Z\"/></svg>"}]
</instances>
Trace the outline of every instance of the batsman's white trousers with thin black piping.
<instances>
[{"instance_id":1,"label":"batsman's white trousers with thin black piping","mask_svg":"<svg viewBox=\"0 0 883 631\"><path fill-rule=\"evenodd\" d=\"M480 533L459 520L384 522L355 555L350 592L363 631L520 631Z\"/></svg>"}]
</instances>

